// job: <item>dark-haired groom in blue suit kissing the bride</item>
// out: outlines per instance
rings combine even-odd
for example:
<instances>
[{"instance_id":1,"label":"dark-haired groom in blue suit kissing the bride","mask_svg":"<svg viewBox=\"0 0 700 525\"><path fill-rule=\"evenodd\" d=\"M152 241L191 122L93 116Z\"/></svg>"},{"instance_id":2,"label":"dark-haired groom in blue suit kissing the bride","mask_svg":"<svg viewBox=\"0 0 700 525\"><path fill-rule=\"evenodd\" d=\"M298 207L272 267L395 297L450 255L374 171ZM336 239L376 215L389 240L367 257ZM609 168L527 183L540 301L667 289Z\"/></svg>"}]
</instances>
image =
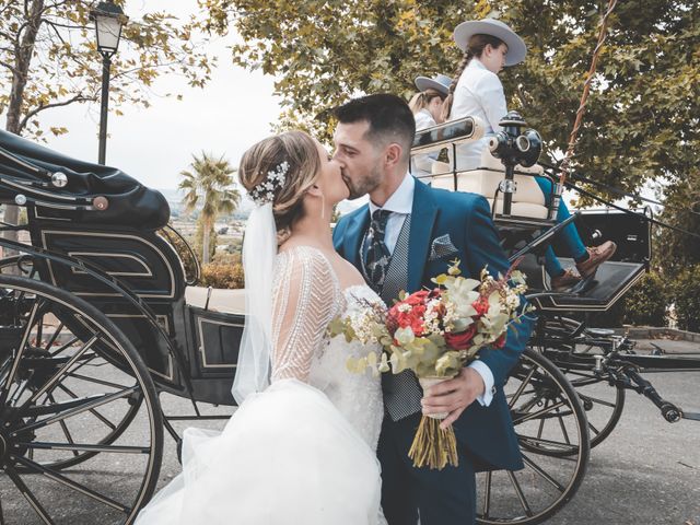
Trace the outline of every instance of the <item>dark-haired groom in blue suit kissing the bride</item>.
<instances>
[{"instance_id":1,"label":"dark-haired groom in blue suit kissing the bride","mask_svg":"<svg viewBox=\"0 0 700 525\"><path fill-rule=\"evenodd\" d=\"M509 264L488 201L475 194L432 189L408 173L413 115L388 94L355 98L336 110L335 159L354 199L370 202L343 217L336 249L392 305L401 290L434 288L430 279L455 258L465 277ZM485 349L454 380L423 393L410 371L383 377L385 418L380 438L382 506L389 525L467 525L476 522L475 472L523 468L502 385L529 337L525 320L500 350ZM408 457L421 412L448 411L459 466L415 468Z\"/></svg>"}]
</instances>

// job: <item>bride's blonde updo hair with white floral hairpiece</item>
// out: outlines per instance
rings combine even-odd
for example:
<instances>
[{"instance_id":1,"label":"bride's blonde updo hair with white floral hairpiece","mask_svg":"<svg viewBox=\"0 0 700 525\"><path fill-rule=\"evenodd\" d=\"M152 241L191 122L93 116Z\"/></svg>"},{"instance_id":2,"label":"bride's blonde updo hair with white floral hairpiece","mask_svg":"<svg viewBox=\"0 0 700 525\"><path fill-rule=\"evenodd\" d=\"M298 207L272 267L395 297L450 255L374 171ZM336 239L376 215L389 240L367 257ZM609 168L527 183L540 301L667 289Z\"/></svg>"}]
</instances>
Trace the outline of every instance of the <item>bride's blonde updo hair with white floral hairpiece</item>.
<instances>
[{"instance_id":1,"label":"bride's blonde updo hair with white floral hairpiece","mask_svg":"<svg viewBox=\"0 0 700 525\"><path fill-rule=\"evenodd\" d=\"M238 167L241 185L250 192L284 162L284 184L275 187L272 199L278 244L289 238L292 224L303 217L303 197L318 178L320 159L314 139L303 131L268 137L243 154Z\"/></svg>"}]
</instances>

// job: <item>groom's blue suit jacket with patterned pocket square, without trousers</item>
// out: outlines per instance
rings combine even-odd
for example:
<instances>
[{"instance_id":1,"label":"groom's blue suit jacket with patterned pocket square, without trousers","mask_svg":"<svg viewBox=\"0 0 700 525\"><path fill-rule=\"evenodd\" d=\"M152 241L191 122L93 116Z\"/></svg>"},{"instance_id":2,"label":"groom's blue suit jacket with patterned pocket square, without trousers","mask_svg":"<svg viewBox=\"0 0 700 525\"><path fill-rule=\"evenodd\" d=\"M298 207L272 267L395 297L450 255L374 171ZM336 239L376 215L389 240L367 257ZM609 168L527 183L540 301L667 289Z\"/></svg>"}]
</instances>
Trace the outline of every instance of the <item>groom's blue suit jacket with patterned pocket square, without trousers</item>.
<instances>
[{"instance_id":1,"label":"groom's blue suit jacket with patterned pocket square, without trousers","mask_svg":"<svg viewBox=\"0 0 700 525\"><path fill-rule=\"evenodd\" d=\"M369 206L363 206L340 219L334 231L336 249L358 269L361 269L360 243L369 223ZM457 254L429 260L433 240L442 235L450 235ZM430 279L444 273L454 258L462 260L465 277L478 279L485 267L493 275L508 270L508 258L499 243L489 203L476 194L433 189L416 180L407 291L434 288ZM502 386L525 349L532 324L530 319L524 319L522 324L513 325L515 330L509 330L505 347L483 349L479 353L479 359L493 373L493 400L489 407L472 402L454 424L459 442L477 456L478 469L523 467Z\"/></svg>"}]
</instances>

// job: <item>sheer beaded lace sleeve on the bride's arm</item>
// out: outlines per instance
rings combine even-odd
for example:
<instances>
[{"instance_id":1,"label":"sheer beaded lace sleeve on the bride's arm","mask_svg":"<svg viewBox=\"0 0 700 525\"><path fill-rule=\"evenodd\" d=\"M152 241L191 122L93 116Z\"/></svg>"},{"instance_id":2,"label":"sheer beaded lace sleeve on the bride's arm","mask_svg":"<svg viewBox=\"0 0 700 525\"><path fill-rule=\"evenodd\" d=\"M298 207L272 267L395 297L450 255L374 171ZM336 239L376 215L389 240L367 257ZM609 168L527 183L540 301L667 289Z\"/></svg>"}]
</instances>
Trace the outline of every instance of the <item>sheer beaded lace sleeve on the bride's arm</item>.
<instances>
[{"instance_id":1,"label":"sheer beaded lace sleeve on the bride's arm","mask_svg":"<svg viewBox=\"0 0 700 525\"><path fill-rule=\"evenodd\" d=\"M315 248L278 256L272 287L272 381L306 382L311 359L338 311L338 283L328 260Z\"/></svg>"}]
</instances>

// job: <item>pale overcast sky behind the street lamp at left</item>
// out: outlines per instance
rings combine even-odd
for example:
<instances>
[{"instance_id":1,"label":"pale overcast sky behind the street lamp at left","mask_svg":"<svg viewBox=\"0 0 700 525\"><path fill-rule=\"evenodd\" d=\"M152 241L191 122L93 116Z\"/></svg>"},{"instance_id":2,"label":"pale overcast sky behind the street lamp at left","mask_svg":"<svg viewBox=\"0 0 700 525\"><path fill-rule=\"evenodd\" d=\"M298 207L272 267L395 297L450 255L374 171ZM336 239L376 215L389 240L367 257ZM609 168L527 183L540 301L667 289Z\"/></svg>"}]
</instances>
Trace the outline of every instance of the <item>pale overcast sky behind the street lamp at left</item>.
<instances>
[{"instance_id":1,"label":"pale overcast sky behind the street lamp at left","mask_svg":"<svg viewBox=\"0 0 700 525\"><path fill-rule=\"evenodd\" d=\"M124 9L131 19L155 10L186 16L196 10L196 1L148 0L147 4L128 0ZM173 189L192 153L223 154L237 166L248 147L271 135L271 124L280 114L275 79L234 67L226 49L233 38L230 35L211 43L209 52L219 57L219 66L203 90L189 88L178 75L162 77L154 85L150 108L122 106L124 116L110 113L106 164L118 166L145 186ZM183 100L162 96L167 92L182 93ZM96 162L98 110L97 106L79 104L46 110L40 119L45 129L66 126L70 131L61 137L47 133L46 145Z\"/></svg>"}]
</instances>

